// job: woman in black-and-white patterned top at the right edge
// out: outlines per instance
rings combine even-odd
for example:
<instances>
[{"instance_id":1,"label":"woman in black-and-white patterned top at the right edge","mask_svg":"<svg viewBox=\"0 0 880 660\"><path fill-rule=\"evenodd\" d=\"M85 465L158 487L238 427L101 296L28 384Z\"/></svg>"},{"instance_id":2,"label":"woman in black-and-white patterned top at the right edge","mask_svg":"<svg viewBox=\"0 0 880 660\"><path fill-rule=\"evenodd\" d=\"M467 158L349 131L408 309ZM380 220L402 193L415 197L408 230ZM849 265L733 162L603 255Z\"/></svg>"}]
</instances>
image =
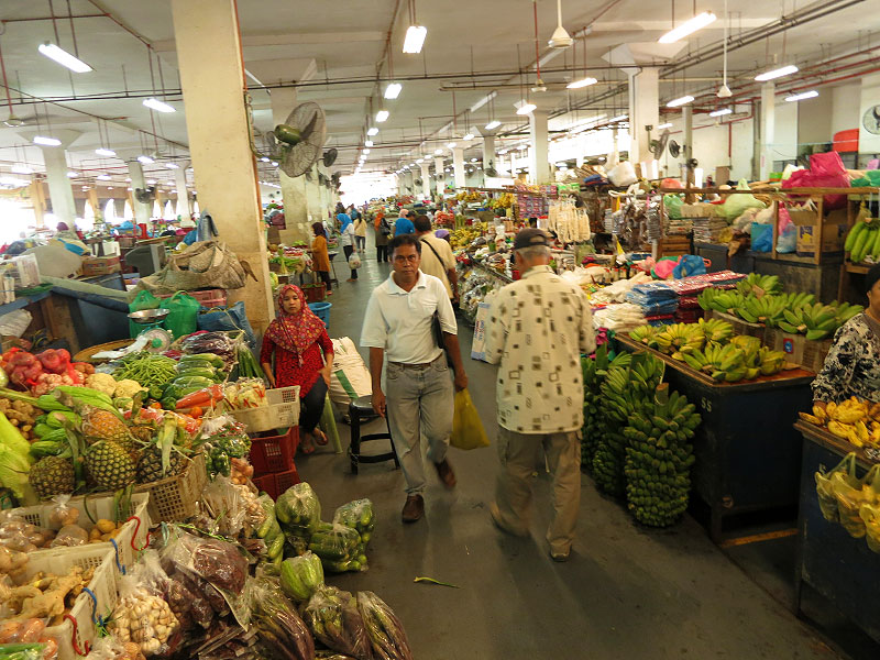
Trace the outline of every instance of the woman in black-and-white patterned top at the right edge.
<instances>
[{"instance_id":1,"label":"woman in black-and-white patterned top at the right edge","mask_svg":"<svg viewBox=\"0 0 880 660\"><path fill-rule=\"evenodd\" d=\"M820 406L851 396L880 402L880 264L865 276L868 307L844 323L822 373L813 381L813 399Z\"/></svg>"}]
</instances>

